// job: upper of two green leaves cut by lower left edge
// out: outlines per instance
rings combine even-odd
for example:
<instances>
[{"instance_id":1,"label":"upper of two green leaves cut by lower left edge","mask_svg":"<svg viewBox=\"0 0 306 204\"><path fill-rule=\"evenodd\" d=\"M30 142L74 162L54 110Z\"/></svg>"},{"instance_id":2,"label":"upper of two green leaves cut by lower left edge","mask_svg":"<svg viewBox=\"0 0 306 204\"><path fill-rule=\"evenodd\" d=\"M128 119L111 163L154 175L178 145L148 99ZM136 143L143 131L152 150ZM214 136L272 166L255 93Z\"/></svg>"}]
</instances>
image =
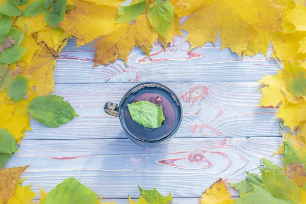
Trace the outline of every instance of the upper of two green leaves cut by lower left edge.
<instances>
[{"instance_id":1,"label":"upper of two green leaves cut by lower left edge","mask_svg":"<svg viewBox=\"0 0 306 204\"><path fill-rule=\"evenodd\" d=\"M17 143L7 129L0 128L0 152L12 154L17 151Z\"/></svg>"}]
</instances>

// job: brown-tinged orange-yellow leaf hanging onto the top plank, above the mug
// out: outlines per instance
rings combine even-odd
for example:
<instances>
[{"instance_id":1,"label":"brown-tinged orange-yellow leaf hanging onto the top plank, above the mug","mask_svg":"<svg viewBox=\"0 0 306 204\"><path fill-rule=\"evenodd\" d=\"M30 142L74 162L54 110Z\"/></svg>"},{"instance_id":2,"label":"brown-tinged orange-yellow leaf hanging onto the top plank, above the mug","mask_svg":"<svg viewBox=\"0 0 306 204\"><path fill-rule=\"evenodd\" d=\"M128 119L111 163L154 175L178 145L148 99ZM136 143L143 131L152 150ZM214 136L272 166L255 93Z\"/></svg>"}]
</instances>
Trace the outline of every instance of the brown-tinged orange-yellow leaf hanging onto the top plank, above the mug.
<instances>
[{"instance_id":1,"label":"brown-tinged orange-yellow leaf hanging onto the top plank, above the mug","mask_svg":"<svg viewBox=\"0 0 306 204\"><path fill-rule=\"evenodd\" d=\"M140 15L136 21L116 24L112 33L104 36L94 45L96 47L94 66L107 65L117 58L126 62L135 45L140 46L143 52L149 55L151 29L145 14Z\"/></svg>"}]
</instances>

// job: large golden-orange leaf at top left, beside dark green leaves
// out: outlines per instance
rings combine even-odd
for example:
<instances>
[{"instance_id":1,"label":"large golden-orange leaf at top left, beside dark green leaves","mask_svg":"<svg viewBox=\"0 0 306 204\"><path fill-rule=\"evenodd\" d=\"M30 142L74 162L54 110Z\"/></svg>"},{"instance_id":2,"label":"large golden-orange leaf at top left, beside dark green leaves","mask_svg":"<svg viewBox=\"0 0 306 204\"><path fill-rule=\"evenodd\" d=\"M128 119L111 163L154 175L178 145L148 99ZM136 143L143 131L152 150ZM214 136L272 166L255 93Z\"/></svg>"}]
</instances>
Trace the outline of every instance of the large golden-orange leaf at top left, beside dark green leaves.
<instances>
[{"instance_id":1,"label":"large golden-orange leaf at top left, beside dark green leaves","mask_svg":"<svg viewBox=\"0 0 306 204\"><path fill-rule=\"evenodd\" d=\"M77 46L87 44L112 31L117 18L115 7L100 6L75 0L75 10L68 12L59 27L77 37Z\"/></svg>"}]
</instances>

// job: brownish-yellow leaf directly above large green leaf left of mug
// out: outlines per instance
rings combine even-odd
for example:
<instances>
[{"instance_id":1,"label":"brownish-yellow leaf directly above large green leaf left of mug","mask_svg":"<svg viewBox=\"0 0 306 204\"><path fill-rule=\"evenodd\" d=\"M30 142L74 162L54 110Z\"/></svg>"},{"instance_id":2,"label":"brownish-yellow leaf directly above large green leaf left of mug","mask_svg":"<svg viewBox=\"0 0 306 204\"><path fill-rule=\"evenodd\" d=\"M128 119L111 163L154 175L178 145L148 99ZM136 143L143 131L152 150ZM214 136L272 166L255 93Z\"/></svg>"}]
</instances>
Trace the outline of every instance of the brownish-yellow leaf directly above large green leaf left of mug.
<instances>
[{"instance_id":1,"label":"brownish-yellow leaf directly above large green leaf left of mug","mask_svg":"<svg viewBox=\"0 0 306 204\"><path fill-rule=\"evenodd\" d=\"M40 51L38 55L34 55L35 60L31 64L24 61L18 62L18 66L23 69L21 73L30 75L37 81L35 85L36 96L48 95L50 91L54 91L53 74L56 65L55 57L46 46Z\"/></svg>"}]
</instances>

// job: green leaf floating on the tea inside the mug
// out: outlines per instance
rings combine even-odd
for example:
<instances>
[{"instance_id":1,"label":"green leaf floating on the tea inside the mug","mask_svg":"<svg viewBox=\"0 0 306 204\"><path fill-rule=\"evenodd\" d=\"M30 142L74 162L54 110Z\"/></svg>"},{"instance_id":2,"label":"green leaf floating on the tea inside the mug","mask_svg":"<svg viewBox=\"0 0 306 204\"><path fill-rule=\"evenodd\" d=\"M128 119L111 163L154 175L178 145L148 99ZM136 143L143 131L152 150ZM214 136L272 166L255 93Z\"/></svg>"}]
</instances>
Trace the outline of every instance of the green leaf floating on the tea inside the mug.
<instances>
[{"instance_id":1,"label":"green leaf floating on the tea inside the mug","mask_svg":"<svg viewBox=\"0 0 306 204\"><path fill-rule=\"evenodd\" d=\"M165 119L160 106L149 101L138 101L127 105L132 119L148 128L158 128Z\"/></svg>"}]
</instances>

